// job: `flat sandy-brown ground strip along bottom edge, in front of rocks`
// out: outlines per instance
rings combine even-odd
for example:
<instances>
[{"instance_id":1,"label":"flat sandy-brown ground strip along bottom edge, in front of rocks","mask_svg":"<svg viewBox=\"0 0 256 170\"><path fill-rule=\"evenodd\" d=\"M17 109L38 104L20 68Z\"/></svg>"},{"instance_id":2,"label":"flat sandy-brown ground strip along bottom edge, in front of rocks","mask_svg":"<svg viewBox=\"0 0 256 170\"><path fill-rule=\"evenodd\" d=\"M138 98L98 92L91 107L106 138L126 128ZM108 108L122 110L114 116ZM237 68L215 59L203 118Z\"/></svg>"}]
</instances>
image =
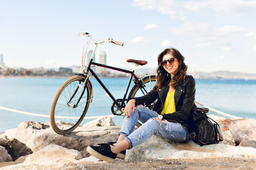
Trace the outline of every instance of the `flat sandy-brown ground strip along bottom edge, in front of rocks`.
<instances>
[{"instance_id":1,"label":"flat sandy-brown ground strip along bottom edge, in front of rocks","mask_svg":"<svg viewBox=\"0 0 256 170\"><path fill-rule=\"evenodd\" d=\"M2 162L0 169L49 169L49 166L22 165L22 159L18 162ZM16 164L16 166L9 166ZM18 165L20 164L20 165ZM84 162L80 164L52 165L50 169L106 169L106 170L130 170L130 169L256 169L256 162L250 159L168 159L168 160L146 160L141 162L130 162L117 159L114 162Z\"/></svg>"}]
</instances>

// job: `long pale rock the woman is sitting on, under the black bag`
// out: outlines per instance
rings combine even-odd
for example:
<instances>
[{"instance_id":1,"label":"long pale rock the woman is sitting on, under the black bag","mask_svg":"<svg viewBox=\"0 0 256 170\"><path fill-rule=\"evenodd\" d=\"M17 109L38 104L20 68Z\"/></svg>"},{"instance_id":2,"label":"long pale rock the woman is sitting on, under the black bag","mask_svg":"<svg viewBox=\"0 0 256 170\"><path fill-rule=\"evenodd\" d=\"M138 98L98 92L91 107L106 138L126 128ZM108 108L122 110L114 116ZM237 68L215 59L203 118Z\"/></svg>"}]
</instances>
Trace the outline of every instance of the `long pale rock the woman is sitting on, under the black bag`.
<instances>
[{"instance_id":1,"label":"long pale rock the woman is sitting on, under the black bag","mask_svg":"<svg viewBox=\"0 0 256 170\"><path fill-rule=\"evenodd\" d=\"M225 144L204 145L200 147L193 141L171 142L162 137L152 136L146 142L127 150L125 159L138 161L146 159L196 159L228 157L238 159L255 159L256 149L235 147Z\"/></svg>"}]
</instances>

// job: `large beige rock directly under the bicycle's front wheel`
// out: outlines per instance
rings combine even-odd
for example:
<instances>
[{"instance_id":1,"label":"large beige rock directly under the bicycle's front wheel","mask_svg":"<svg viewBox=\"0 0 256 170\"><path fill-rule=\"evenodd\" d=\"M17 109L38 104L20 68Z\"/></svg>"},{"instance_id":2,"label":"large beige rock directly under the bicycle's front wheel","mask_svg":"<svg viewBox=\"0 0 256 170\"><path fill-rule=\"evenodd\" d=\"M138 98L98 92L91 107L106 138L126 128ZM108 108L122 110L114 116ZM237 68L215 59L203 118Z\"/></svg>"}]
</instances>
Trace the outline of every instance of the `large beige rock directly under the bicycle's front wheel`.
<instances>
[{"instance_id":1,"label":"large beige rock directly under the bicycle's front wheel","mask_svg":"<svg viewBox=\"0 0 256 170\"><path fill-rule=\"evenodd\" d=\"M120 127L78 127L68 135L56 134L50 125L26 121L18 125L15 137L36 152L47 145L60 145L68 149L76 149L82 157L89 154L88 145L116 141Z\"/></svg>"}]
</instances>

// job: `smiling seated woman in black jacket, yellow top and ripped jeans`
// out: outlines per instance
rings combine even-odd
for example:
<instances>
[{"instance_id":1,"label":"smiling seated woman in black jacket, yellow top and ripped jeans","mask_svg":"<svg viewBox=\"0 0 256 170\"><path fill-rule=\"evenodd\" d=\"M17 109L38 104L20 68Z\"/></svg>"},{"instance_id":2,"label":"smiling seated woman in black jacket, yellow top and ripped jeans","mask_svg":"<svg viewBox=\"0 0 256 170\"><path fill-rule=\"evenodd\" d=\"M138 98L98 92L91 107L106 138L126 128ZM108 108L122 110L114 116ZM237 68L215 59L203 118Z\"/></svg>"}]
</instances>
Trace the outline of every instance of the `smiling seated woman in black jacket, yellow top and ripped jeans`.
<instances>
[{"instance_id":1,"label":"smiling seated woman in black jacket, yellow top and ripped jeans","mask_svg":"<svg viewBox=\"0 0 256 170\"><path fill-rule=\"evenodd\" d=\"M196 83L193 77L186 75L186 71L184 57L178 50L169 48L161 52L156 86L145 96L129 100L124 108L125 116L117 142L89 146L87 152L98 159L112 162L125 154L126 149L132 149L152 135L175 142L188 140ZM156 99L152 111L144 107ZM144 124L134 130L138 120Z\"/></svg>"}]
</instances>

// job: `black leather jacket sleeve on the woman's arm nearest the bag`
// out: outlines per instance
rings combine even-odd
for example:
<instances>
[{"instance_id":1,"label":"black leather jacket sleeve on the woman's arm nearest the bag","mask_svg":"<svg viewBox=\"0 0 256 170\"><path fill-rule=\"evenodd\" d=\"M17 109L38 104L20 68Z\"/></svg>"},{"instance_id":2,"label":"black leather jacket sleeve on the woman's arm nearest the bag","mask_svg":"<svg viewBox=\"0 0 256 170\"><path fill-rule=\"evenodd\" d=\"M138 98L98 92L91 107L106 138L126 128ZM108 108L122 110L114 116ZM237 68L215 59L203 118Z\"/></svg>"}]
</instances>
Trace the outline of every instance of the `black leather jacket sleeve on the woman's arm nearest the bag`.
<instances>
[{"instance_id":1,"label":"black leather jacket sleeve on the woman's arm nearest the bag","mask_svg":"<svg viewBox=\"0 0 256 170\"><path fill-rule=\"evenodd\" d=\"M193 77L188 77L185 81L185 93L183 94L183 101L178 101L178 111L167 113L163 115L163 118L169 121L184 122L191 118L191 110L195 101L196 95L196 81ZM182 99L182 98L180 98Z\"/></svg>"}]
</instances>

